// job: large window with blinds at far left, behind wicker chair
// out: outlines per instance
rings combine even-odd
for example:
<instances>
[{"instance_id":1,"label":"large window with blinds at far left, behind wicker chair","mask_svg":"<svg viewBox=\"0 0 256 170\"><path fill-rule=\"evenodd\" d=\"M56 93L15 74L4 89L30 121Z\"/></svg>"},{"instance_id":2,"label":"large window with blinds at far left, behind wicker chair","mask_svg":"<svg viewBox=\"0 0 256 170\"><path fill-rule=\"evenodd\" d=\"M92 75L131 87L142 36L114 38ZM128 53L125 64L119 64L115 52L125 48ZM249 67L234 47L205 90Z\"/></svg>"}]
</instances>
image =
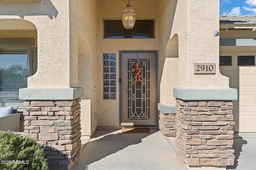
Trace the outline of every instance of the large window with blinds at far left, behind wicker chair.
<instances>
[{"instance_id":1,"label":"large window with blinds at far left, behind wicker chair","mask_svg":"<svg viewBox=\"0 0 256 170\"><path fill-rule=\"evenodd\" d=\"M0 106L24 108L23 100L19 100L19 89L27 87L28 76L36 70L35 48L0 48Z\"/></svg>"}]
</instances>

